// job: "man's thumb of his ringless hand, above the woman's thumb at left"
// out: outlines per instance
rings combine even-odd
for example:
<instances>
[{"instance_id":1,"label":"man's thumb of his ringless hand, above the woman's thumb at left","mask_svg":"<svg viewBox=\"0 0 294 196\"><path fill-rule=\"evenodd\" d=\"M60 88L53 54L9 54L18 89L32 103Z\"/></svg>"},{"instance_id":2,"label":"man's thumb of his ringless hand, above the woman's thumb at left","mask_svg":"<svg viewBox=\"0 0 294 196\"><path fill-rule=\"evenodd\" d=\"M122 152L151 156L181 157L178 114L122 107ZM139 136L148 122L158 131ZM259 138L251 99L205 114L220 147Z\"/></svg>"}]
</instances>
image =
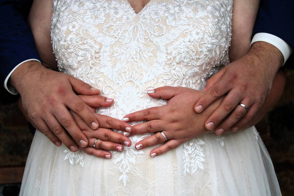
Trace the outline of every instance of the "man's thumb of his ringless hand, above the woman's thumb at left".
<instances>
[{"instance_id":1,"label":"man's thumb of his ringless hand, above the woman's thumb at left","mask_svg":"<svg viewBox=\"0 0 294 196\"><path fill-rule=\"evenodd\" d=\"M100 93L99 89L95 89L91 85L88 85L75 77L69 76L69 81L73 91L79 95L99 95Z\"/></svg>"}]
</instances>

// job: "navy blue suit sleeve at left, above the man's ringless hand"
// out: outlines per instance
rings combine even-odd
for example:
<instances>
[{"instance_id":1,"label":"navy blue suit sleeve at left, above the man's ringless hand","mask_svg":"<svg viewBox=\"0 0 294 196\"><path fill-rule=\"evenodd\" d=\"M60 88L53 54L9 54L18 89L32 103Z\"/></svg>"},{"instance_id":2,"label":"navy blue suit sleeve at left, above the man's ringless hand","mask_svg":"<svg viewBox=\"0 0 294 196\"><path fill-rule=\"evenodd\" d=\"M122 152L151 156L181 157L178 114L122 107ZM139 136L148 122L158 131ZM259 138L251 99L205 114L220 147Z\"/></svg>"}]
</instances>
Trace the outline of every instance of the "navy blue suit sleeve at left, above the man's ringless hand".
<instances>
[{"instance_id":1,"label":"navy blue suit sleeve at left, above the man's ringless hand","mask_svg":"<svg viewBox=\"0 0 294 196\"><path fill-rule=\"evenodd\" d=\"M0 86L11 70L19 63L35 58L40 60L36 50L27 17L32 0L0 0ZM1 100L14 100L1 89ZM5 94L5 97L4 97ZM4 99L3 99L4 97Z\"/></svg>"}]
</instances>

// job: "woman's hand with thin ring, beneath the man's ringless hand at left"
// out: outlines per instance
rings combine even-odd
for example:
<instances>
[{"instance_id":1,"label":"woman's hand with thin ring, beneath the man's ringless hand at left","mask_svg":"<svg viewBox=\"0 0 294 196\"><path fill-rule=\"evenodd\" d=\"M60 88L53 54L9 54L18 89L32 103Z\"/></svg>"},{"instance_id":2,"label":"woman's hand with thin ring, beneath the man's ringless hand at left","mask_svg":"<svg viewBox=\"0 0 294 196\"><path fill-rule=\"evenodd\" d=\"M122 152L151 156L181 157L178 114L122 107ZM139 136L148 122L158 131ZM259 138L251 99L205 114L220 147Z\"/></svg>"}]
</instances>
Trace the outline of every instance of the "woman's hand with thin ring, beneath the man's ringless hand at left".
<instances>
[{"instance_id":1,"label":"woman's hand with thin ring, beneath the man's ringless hand at left","mask_svg":"<svg viewBox=\"0 0 294 196\"><path fill-rule=\"evenodd\" d=\"M94 116L99 121L99 128L97 130L93 130L85 123L83 119L81 119L79 115L77 115L73 111L70 111L74 116L74 120L76 121L77 125L80 127L83 134L85 134L85 136L89 140L87 147L80 147L85 153L100 158L110 159L111 153L108 152L108 150L116 150L122 152L124 145L126 145L127 147L131 146L131 141L128 137L112 130L116 129L131 132L132 128L128 123L107 115L100 115L95 113L95 108L109 107L111 104L113 104L113 99L109 99L100 95L79 96L89 107L91 107L90 109L93 111ZM98 140L96 141L96 146L94 148L93 145L96 138L98 138Z\"/></svg>"}]
</instances>

